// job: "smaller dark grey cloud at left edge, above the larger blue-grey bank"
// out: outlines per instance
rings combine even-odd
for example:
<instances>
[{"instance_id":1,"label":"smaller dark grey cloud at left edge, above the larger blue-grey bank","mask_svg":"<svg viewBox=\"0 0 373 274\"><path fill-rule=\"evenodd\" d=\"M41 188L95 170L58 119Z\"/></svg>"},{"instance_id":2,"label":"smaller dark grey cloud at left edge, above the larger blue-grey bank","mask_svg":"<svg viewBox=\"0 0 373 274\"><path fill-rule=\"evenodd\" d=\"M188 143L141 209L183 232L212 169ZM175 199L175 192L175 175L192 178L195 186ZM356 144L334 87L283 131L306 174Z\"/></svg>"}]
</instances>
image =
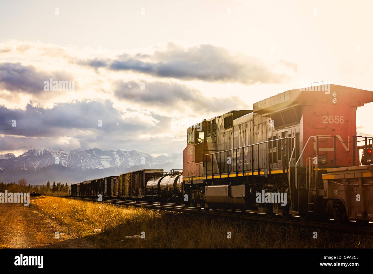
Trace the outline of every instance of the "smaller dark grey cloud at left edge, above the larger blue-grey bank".
<instances>
[{"instance_id":1,"label":"smaller dark grey cloud at left edge, above the larger blue-grey bank","mask_svg":"<svg viewBox=\"0 0 373 274\"><path fill-rule=\"evenodd\" d=\"M21 63L0 63L0 89L39 94L44 92L44 81L73 81L66 72L45 72ZM75 85L76 89L76 85Z\"/></svg>"}]
</instances>

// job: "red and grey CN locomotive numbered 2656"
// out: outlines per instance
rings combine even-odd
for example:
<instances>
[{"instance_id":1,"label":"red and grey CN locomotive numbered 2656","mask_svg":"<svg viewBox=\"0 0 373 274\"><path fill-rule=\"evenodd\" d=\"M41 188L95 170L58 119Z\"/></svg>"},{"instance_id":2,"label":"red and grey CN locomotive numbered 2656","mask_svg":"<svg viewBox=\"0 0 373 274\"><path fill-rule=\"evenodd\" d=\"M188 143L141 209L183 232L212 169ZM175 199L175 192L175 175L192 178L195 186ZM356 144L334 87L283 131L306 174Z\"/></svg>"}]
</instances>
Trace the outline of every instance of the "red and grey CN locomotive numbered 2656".
<instances>
[{"instance_id":1,"label":"red and grey CN locomotive numbered 2656","mask_svg":"<svg viewBox=\"0 0 373 274\"><path fill-rule=\"evenodd\" d=\"M293 89L255 103L253 110L189 127L185 204L339 221L345 210L324 188L322 175L359 164L356 109L372 101L373 92L345 86Z\"/></svg>"}]
</instances>

